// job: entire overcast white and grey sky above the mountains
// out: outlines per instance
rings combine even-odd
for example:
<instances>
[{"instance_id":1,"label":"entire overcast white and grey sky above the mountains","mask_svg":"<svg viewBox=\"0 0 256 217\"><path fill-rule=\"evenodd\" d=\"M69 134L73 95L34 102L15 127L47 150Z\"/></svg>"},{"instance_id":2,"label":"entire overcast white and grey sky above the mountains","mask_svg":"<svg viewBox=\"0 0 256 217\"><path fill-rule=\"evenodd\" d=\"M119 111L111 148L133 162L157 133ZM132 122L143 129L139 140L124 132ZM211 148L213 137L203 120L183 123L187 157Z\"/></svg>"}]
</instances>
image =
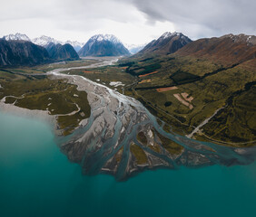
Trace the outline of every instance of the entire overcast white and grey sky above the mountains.
<instances>
[{"instance_id":1,"label":"entire overcast white and grey sky above the mountains","mask_svg":"<svg viewBox=\"0 0 256 217\"><path fill-rule=\"evenodd\" d=\"M164 32L193 40L225 33L256 35L255 0L0 0L0 37L25 33L86 42L113 33L124 43L150 42Z\"/></svg>"}]
</instances>

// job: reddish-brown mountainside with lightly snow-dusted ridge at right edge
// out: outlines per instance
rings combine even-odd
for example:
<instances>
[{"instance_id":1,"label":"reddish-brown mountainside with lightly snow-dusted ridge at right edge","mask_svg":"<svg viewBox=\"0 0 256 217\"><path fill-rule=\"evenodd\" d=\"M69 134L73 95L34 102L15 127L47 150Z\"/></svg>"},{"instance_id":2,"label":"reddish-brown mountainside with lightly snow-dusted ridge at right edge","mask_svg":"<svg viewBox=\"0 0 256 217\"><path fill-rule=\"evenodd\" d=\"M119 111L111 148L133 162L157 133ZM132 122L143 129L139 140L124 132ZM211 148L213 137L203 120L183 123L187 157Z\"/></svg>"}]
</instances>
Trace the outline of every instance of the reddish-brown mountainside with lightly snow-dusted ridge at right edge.
<instances>
[{"instance_id":1,"label":"reddish-brown mountainside with lightly snow-dusted ridge at right edge","mask_svg":"<svg viewBox=\"0 0 256 217\"><path fill-rule=\"evenodd\" d=\"M256 37L228 34L220 38L200 39L187 44L175 53L231 66L256 58Z\"/></svg>"}]
</instances>

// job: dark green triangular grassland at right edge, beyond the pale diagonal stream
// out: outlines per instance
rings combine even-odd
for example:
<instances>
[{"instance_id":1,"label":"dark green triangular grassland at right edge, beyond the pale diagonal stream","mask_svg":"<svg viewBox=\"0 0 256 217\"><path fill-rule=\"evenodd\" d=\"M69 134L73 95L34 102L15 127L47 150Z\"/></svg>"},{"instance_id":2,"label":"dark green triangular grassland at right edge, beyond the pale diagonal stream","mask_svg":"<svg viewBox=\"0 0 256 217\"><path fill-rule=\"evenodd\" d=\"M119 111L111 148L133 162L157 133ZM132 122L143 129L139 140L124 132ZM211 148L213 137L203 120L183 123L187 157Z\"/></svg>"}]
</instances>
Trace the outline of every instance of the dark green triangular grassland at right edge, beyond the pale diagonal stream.
<instances>
[{"instance_id":1,"label":"dark green triangular grassland at right edge, beyond the pale diagonal stream","mask_svg":"<svg viewBox=\"0 0 256 217\"><path fill-rule=\"evenodd\" d=\"M256 86L231 96L229 105L203 127L202 135L197 138L218 142L231 137L237 146L253 146L250 141L255 140L256 135L255 96Z\"/></svg>"}]
</instances>

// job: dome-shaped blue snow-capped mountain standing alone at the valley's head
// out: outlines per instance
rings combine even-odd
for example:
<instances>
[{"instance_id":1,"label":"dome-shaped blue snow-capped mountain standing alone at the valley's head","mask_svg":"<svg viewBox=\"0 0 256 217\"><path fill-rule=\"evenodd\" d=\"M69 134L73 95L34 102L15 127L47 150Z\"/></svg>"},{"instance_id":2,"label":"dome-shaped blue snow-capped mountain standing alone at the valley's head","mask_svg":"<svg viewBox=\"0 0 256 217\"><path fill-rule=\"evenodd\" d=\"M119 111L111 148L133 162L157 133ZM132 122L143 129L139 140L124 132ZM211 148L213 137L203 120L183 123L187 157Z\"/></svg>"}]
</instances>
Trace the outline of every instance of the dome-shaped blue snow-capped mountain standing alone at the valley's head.
<instances>
[{"instance_id":1,"label":"dome-shaped blue snow-capped mountain standing alone at the valley's head","mask_svg":"<svg viewBox=\"0 0 256 217\"><path fill-rule=\"evenodd\" d=\"M96 34L78 52L80 56L122 56L130 52L113 34Z\"/></svg>"}]
</instances>

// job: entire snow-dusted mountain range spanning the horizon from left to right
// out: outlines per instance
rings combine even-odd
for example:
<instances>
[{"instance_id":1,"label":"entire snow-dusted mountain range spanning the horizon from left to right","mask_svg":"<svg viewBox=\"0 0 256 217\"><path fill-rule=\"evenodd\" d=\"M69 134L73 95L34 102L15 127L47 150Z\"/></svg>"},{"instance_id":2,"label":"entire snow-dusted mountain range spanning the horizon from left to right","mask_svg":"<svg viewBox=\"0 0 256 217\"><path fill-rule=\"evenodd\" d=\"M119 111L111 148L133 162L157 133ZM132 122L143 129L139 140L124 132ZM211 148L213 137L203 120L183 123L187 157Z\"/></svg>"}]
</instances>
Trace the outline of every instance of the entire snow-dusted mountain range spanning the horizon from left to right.
<instances>
[{"instance_id":1,"label":"entire snow-dusted mountain range spanning the horizon from left to right","mask_svg":"<svg viewBox=\"0 0 256 217\"><path fill-rule=\"evenodd\" d=\"M182 33L167 32L145 46L132 45L129 46L129 49L130 51L132 49L141 50L135 54L135 57L147 54L166 55L175 52L181 56L205 58L231 66L254 59L256 56L255 44L256 37L245 34L227 34L219 38L204 38L192 42ZM15 63L31 65L47 61L77 60L79 56L125 56L131 54L123 43L112 34L94 35L79 49L81 46L83 43L71 41L63 43L48 36L30 40L25 34L9 34L1 40L1 65L14 65ZM78 50L80 50L79 56L77 55Z\"/></svg>"}]
</instances>

